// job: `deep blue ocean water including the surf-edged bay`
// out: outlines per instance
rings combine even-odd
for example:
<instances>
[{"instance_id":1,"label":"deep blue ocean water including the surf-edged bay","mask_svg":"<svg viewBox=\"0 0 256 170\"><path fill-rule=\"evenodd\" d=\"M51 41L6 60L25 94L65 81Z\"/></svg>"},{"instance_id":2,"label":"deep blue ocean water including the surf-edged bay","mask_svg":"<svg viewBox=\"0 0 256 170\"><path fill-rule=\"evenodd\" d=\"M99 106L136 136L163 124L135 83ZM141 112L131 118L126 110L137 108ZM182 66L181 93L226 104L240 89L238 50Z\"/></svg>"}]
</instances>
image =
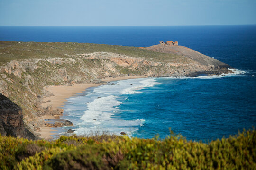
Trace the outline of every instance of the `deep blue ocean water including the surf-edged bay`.
<instances>
[{"instance_id":1,"label":"deep blue ocean water including the surf-edged bay","mask_svg":"<svg viewBox=\"0 0 256 170\"><path fill-rule=\"evenodd\" d=\"M164 138L171 127L187 139L207 141L256 126L256 25L0 26L0 40L140 47L173 40L240 70L236 75L133 79L90 88L64 106L63 117L74 122L76 133L96 129Z\"/></svg>"}]
</instances>

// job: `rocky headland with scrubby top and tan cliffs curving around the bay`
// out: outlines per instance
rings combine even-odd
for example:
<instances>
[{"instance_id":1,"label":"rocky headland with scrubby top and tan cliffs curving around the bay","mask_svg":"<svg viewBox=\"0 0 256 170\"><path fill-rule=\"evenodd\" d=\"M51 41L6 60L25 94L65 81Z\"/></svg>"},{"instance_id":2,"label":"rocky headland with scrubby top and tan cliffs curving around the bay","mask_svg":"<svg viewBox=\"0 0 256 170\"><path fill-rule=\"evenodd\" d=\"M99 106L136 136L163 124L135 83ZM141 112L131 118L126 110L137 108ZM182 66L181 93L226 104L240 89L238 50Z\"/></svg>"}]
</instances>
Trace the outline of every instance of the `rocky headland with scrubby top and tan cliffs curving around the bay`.
<instances>
[{"instance_id":1,"label":"rocky headland with scrubby top and tan cliffs curving around the bay","mask_svg":"<svg viewBox=\"0 0 256 170\"><path fill-rule=\"evenodd\" d=\"M48 85L97 84L104 83L103 78L119 76L219 75L230 72L228 68L231 67L225 63L178 45L141 49L89 43L0 41L1 134L40 137L40 126L46 124L42 116L63 113L51 105L42 107L43 98L53 95L44 88ZM13 111L7 111L10 109ZM16 123L8 124L9 117L15 117ZM26 135L28 132L34 137Z\"/></svg>"}]
</instances>

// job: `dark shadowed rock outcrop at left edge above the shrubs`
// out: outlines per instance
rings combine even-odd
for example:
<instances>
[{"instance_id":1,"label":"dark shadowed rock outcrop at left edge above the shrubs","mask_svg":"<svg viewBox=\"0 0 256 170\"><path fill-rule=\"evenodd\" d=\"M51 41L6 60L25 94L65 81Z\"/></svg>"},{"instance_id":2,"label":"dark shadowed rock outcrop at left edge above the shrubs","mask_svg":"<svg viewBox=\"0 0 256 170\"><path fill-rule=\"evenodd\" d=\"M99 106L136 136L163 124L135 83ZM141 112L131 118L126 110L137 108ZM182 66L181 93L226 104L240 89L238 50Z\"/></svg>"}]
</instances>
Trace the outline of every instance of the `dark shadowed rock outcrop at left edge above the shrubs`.
<instances>
[{"instance_id":1,"label":"dark shadowed rock outcrop at left edge above the shrubs","mask_svg":"<svg viewBox=\"0 0 256 170\"><path fill-rule=\"evenodd\" d=\"M2 136L23 137L36 140L22 120L22 109L0 93L0 133Z\"/></svg>"}]
</instances>

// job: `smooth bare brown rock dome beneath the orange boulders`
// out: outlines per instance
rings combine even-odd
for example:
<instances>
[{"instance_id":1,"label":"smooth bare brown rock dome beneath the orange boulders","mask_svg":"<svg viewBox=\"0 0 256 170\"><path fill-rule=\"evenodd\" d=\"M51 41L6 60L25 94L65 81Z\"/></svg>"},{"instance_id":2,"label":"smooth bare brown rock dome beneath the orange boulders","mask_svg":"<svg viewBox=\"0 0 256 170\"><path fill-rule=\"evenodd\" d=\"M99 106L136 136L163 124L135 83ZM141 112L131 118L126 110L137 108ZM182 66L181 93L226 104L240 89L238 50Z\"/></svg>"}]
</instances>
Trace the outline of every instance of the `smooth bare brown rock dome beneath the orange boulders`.
<instances>
[{"instance_id":1,"label":"smooth bare brown rock dome beneath the orange boulders","mask_svg":"<svg viewBox=\"0 0 256 170\"><path fill-rule=\"evenodd\" d=\"M213 59L209 56L206 56L204 54L201 54L198 51L192 50L190 48L184 47L184 46L177 46L177 45L153 45L150 47L144 48L146 50L155 51L155 52L162 52L162 53L168 53L168 54L175 54L175 55L181 55L184 57L188 57L202 65L208 66L214 65L215 68L231 68L228 64L225 64L217 59Z\"/></svg>"}]
</instances>

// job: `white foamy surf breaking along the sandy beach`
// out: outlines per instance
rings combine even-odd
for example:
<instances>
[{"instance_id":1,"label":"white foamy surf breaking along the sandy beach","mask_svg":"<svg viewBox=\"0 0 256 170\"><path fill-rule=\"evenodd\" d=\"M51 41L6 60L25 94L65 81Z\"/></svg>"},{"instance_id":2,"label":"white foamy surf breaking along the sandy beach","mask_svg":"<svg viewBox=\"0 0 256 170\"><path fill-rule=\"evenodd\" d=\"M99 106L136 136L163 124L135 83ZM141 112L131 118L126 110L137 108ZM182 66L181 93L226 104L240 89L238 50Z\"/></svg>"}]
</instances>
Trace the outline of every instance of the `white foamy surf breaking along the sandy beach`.
<instances>
[{"instance_id":1,"label":"white foamy surf breaking along the sandy beach","mask_svg":"<svg viewBox=\"0 0 256 170\"><path fill-rule=\"evenodd\" d=\"M125 132L131 136L140 126L144 119L122 120L119 119L121 110L119 105L122 100L128 100L123 95L141 93L138 90L159 84L155 78L128 79L117 82L109 82L108 85L95 87L92 93L68 99L68 102L76 104L66 110L84 110L83 114L76 115L80 120L75 122L77 135L90 134L93 131L107 131L110 134L119 135ZM73 113L73 116L75 114Z\"/></svg>"}]
</instances>

